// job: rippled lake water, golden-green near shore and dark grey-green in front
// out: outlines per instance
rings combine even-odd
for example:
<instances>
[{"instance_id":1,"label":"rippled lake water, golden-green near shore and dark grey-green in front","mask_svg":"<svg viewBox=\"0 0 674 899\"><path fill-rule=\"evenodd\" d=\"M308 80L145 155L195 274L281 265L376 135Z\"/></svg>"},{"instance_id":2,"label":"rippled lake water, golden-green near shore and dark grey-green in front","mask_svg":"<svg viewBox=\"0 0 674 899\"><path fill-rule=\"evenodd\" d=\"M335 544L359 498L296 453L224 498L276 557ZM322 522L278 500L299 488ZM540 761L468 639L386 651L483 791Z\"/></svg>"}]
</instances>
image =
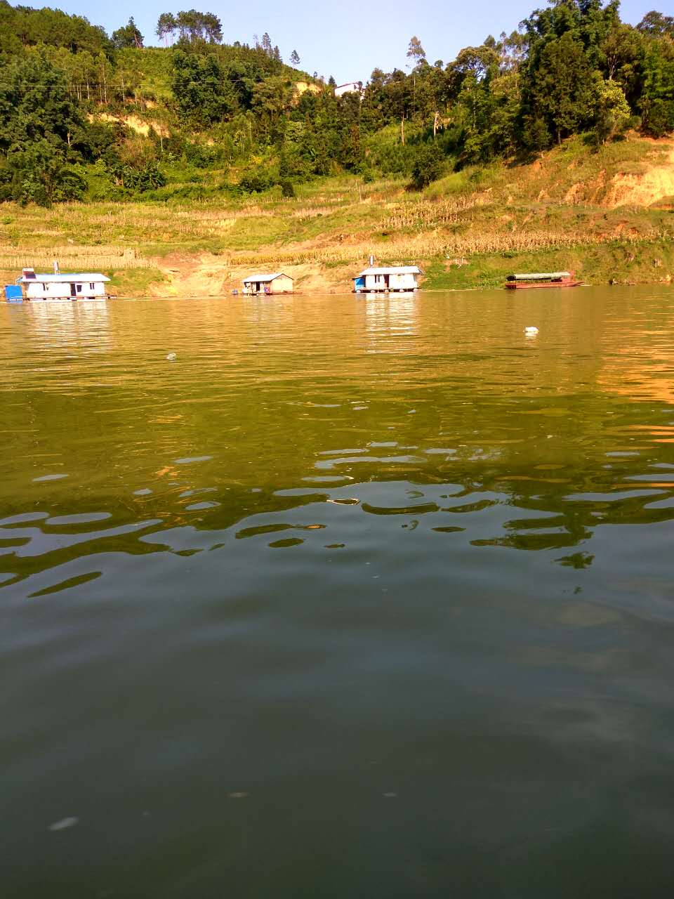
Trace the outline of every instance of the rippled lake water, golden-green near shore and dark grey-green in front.
<instances>
[{"instance_id":1,"label":"rippled lake water, golden-green near shore and dark grey-green in front","mask_svg":"<svg viewBox=\"0 0 674 899\"><path fill-rule=\"evenodd\" d=\"M0 307L2 895L671 895L673 300Z\"/></svg>"}]
</instances>

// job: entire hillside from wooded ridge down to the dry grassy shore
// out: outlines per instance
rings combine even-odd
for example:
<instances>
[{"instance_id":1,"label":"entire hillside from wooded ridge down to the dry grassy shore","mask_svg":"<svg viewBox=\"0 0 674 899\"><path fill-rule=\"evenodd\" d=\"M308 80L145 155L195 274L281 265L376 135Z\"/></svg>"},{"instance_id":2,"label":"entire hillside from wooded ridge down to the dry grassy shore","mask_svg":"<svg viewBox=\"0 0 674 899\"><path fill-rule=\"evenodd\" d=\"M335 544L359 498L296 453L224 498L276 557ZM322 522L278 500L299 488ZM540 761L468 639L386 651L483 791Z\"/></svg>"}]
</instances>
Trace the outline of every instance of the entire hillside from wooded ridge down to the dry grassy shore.
<instances>
[{"instance_id":1,"label":"entire hillside from wooded ridge down to the dry grassy shore","mask_svg":"<svg viewBox=\"0 0 674 899\"><path fill-rule=\"evenodd\" d=\"M79 16L0 0L0 267L111 271L120 292L223 293L250 267L298 289L416 262L426 287L512 268L672 273L674 18L554 0L447 64L362 91L284 63L213 13Z\"/></svg>"}]
</instances>

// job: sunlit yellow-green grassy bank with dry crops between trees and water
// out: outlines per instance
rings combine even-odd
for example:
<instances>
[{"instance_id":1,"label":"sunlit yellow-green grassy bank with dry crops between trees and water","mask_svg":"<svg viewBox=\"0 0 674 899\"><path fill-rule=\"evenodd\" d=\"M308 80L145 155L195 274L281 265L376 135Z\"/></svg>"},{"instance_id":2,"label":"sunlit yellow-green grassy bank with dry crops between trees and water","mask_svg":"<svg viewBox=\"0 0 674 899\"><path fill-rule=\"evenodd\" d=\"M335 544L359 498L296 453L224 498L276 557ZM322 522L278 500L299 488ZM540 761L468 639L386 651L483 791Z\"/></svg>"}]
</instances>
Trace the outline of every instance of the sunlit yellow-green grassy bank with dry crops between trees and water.
<instances>
[{"instance_id":1,"label":"sunlit yellow-green grassy bank with dry crops between trees and water","mask_svg":"<svg viewBox=\"0 0 674 899\"><path fill-rule=\"evenodd\" d=\"M674 144L632 137L595 151L579 138L529 165L448 175L426 191L341 176L253 198L4 204L0 270L106 271L118 292L228 292L251 267L298 289L349 289L367 261L419 263L431 289L487 287L510 271L574 269L590 283L674 276Z\"/></svg>"}]
</instances>

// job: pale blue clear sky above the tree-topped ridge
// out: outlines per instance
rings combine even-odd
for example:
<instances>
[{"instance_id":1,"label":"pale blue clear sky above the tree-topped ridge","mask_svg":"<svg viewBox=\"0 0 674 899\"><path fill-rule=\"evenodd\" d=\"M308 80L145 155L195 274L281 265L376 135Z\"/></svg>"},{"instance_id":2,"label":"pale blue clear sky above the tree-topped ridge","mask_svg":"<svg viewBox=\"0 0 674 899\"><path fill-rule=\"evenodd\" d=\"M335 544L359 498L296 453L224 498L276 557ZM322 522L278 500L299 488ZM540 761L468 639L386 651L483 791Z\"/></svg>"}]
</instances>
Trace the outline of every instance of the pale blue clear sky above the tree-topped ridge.
<instances>
[{"instance_id":1,"label":"pale blue clear sky above the tree-topped ridge","mask_svg":"<svg viewBox=\"0 0 674 899\"><path fill-rule=\"evenodd\" d=\"M480 44L488 34L514 31L518 23L545 0L336 0L332 4L316 0L253 0L251 3L224 3L222 0L117 0L99 4L93 0L22 0L23 5L50 5L66 13L85 15L111 34L133 16L146 39L158 44L155 36L160 13L200 9L216 13L222 22L223 40L253 44L253 35L262 39L267 31L288 62L294 49L299 67L310 75L334 76L338 85L347 81L367 81L373 68L385 71L404 68L412 35L421 39L426 58L449 62L463 47ZM621 17L636 24L653 8L671 12L672 0L623 0ZM13 4L16 5L16 4Z\"/></svg>"}]
</instances>

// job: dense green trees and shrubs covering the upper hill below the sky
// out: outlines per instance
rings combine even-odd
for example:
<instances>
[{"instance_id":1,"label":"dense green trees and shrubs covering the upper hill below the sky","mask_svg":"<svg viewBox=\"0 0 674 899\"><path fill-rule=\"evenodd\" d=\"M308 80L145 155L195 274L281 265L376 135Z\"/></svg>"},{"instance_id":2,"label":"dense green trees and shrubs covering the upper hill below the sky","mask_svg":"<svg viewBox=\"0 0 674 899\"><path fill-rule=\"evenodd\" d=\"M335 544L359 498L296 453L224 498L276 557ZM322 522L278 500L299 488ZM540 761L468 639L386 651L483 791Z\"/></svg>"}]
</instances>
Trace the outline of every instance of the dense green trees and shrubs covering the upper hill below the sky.
<instances>
[{"instance_id":1,"label":"dense green trees and shrubs covering the upper hill below the sky","mask_svg":"<svg viewBox=\"0 0 674 899\"><path fill-rule=\"evenodd\" d=\"M164 48L144 48L133 18L109 39L82 16L0 0L0 200L167 199L172 184L292 196L333 171L422 189L573 134L674 130L674 18L633 27L617 0L554 0L447 64L414 36L407 71L377 68L340 97L332 77L285 66L268 33L223 44L214 13L162 13L155 33Z\"/></svg>"}]
</instances>

